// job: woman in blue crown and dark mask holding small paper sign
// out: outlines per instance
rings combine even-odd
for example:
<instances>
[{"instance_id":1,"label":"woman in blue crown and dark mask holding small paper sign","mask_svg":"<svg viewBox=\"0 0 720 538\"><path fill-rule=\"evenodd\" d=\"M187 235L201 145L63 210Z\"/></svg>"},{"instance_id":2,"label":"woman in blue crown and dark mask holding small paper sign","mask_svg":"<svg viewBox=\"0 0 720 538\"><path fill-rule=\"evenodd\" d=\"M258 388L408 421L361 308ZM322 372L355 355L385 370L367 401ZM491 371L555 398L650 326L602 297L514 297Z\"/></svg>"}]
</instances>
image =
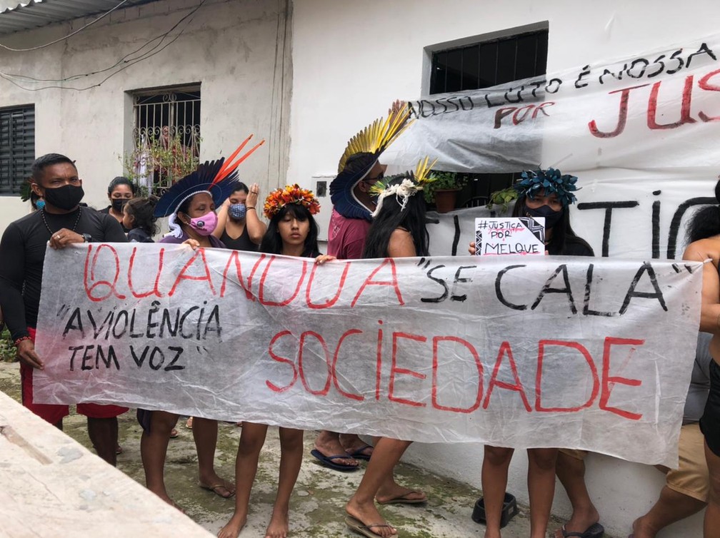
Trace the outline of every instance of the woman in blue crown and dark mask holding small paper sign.
<instances>
[{"instance_id":1,"label":"woman in blue crown and dark mask holding small paper sign","mask_svg":"<svg viewBox=\"0 0 720 538\"><path fill-rule=\"evenodd\" d=\"M590 245L578 237L570 227L569 206L576 201L573 192L577 190L575 186L577 178L573 175L563 175L556 168L526 171L521 177L521 181L515 184L519 196L513 209L513 216L545 219L546 254L593 256ZM470 243L469 252L475 253L474 243ZM500 519L513 452L513 448L485 445L485 457L482 460L482 495L487 521L485 538L500 538ZM566 472L562 473L560 478L567 489L566 479L572 481L577 475L582 482L585 472L585 464L582 461L584 454L579 451L562 450L558 455L557 448L529 448L527 453L530 534L531 538L543 538L547 531L555 491L556 461L562 458L562 467ZM574 533L564 528L559 532L563 536L599 538L603 534L603 528L595 520L595 524L590 525L585 532Z\"/></svg>"}]
</instances>

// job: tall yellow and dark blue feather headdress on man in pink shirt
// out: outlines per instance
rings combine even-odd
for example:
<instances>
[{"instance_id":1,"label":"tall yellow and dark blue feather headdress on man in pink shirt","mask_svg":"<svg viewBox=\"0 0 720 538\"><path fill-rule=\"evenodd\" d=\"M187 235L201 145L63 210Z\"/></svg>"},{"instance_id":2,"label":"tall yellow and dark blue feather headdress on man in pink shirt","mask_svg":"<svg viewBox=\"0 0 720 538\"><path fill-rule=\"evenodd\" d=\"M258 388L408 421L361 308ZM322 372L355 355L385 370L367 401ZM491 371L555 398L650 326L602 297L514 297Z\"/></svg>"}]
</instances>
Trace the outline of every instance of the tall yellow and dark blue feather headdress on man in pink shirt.
<instances>
[{"instance_id":1,"label":"tall yellow and dark blue feather headdress on man in pink shirt","mask_svg":"<svg viewBox=\"0 0 720 538\"><path fill-rule=\"evenodd\" d=\"M348 141L338 163L338 175L330 183L330 200L342 216L348 219L370 219L370 210L356 199L353 189L377 163L384 150L408 128L410 110L392 111L387 119L376 119ZM352 155L361 157L348 164Z\"/></svg>"}]
</instances>

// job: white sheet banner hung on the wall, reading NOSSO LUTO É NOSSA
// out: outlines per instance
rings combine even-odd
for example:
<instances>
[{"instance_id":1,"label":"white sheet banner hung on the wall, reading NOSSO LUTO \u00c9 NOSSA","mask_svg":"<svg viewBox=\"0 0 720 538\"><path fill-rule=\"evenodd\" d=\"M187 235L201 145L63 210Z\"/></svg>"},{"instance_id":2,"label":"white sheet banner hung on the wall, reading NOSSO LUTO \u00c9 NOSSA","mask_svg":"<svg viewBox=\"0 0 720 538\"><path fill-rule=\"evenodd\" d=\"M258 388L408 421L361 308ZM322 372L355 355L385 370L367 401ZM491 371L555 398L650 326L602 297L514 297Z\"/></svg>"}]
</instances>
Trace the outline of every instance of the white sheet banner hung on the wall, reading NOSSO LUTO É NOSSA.
<instances>
[{"instance_id":1,"label":"white sheet banner hung on the wall, reading NOSSO LUTO \u00c9 NOSSA","mask_svg":"<svg viewBox=\"0 0 720 538\"><path fill-rule=\"evenodd\" d=\"M720 35L614 62L410 101L413 125L384 152L412 169L580 179L572 224L597 255L672 258L689 216L716 204ZM460 214L460 218L463 218Z\"/></svg>"}]
</instances>

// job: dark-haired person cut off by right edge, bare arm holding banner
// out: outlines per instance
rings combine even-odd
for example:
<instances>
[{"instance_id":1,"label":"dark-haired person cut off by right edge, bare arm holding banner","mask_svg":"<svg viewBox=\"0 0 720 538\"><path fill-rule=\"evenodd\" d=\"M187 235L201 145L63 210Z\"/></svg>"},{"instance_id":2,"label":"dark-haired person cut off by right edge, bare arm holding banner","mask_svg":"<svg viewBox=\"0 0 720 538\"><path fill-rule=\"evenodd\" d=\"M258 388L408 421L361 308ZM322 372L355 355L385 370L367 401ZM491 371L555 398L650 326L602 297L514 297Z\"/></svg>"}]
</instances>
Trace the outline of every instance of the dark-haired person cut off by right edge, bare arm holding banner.
<instances>
[{"instance_id":1,"label":"dark-haired person cut off by right edge, bare arm holding banner","mask_svg":"<svg viewBox=\"0 0 720 538\"><path fill-rule=\"evenodd\" d=\"M720 203L720 181L715 186ZM710 393L700 419L705 437L705 459L710 471L710 495L705 511L703 536L720 537L720 206L698 211L688 229L690 245L683 260L705 262L703 265L703 304L700 330L713 334L710 341Z\"/></svg>"}]
</instances>

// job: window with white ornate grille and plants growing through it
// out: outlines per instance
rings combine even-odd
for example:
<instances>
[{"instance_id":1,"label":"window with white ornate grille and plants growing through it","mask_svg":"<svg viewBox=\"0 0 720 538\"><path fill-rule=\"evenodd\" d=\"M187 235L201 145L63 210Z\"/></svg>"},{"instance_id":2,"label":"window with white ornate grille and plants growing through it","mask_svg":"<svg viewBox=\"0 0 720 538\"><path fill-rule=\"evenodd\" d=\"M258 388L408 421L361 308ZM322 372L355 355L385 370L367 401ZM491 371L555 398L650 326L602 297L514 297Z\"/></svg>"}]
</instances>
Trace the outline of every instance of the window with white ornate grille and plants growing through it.
<instances>
[{"instance_id":1,"label":"window with white ornate grille and plants growing through it","mask_svg":"<svg viewBox=\"0 0 720 538\"><path fill-rule=\"evenodd\" d=\"M200 87L155 88L132 96L135 149L130 165L140 185L150 193L161 193L197 168Z\"/></svg>"}]
</instances>

